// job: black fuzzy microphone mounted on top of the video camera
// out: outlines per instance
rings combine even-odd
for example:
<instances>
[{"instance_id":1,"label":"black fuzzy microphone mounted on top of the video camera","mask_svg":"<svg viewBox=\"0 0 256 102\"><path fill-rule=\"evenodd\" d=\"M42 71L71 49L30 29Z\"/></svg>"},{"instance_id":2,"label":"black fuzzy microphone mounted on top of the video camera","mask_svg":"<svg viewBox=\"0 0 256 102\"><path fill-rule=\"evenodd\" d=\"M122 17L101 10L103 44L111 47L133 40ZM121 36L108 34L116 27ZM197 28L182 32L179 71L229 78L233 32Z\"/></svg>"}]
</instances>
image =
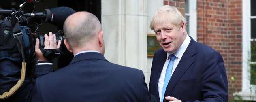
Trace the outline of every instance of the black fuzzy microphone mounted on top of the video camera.
<instances>
[{"instance_id":1,"label":"black fuzzy microphone mounted on top of the video camera","mask_svg":"<svg viewBox=\"0 0 256 102\"><path fill-rule=\"evenodd\" d=\"M24 15L29 17L43 18L43 21L46 23L51 23L56 26L63 26L66 18L73 13L75 13L75 11L72 8L56 7L45 9L43 12L26 13Z\"/></svg>"}]
</instances>

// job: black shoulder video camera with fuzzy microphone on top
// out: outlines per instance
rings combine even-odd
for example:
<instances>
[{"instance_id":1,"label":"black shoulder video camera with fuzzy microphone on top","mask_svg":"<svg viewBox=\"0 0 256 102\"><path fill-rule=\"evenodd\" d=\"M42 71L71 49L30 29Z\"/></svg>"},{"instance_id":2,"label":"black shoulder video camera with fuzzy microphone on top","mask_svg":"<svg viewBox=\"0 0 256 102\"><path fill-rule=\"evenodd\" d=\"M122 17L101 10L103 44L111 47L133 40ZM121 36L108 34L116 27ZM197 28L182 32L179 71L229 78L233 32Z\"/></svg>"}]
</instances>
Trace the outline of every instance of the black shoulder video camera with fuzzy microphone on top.
<instances>
[{"instance_id":1,"label":"black shoulder video camera with fuzzy microphone on top","mask_svg":"<svg viewBox=\"0 0 256 102\"><path fill-rule=\"evenodd\" d=\"M60 49L44 49L43 35L35 37L32 35L39 28L38 23L41 23L41 20L56 26L63 26L65 19L75 11L68 7L57 7L45 9L43 12L34 12L33 10L32 13L24 13L23 7L30 2L35 3L39 0L26 0L19 6L19 10L0 10L0 15L11 15L0 20L0 60L10 59L16 62L34 60L35 38L40 40L40 49L47 59L53 59L66 52L63 30L53 33L56 35L57 41L61 40ZM33 33L27 26L29 24L37 26Z\"/></svg>"}]
</instances>

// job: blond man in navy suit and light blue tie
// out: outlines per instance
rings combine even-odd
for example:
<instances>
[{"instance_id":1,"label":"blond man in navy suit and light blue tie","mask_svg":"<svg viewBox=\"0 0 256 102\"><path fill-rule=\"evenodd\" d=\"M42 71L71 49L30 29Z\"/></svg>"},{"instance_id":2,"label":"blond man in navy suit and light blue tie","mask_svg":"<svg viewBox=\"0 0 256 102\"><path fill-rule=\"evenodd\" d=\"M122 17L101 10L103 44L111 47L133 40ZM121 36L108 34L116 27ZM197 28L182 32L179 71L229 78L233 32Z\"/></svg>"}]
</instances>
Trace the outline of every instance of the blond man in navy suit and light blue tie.
<instances>
[{"instance_id":1,"label":"blond man in navy suit and light blue tie","mask_svg":"<svg viewBox=\"0 0 256 102\"><path fill-rule=\"evenodd\" d=\"M158 102L228 102L222 56L188 36L186 19L177 8L160 7L150 28L162 46L154 54L149 83Z\"/></svg>"}]
</instances>

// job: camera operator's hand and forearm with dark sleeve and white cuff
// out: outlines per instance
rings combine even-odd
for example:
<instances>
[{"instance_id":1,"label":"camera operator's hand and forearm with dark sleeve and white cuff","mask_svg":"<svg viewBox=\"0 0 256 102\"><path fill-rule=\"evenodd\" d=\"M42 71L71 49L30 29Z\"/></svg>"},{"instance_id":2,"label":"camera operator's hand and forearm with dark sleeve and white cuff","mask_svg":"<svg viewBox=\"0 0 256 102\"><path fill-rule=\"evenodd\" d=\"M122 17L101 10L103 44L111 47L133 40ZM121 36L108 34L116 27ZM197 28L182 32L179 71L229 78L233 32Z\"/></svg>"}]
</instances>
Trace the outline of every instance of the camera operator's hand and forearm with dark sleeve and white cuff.
<instances>
[{"instance_id":1,"label":"camera operator's hand and forearm with dark sleeve and white cuff","mask_svg":"<svg viewBox=\"0 0 256 102\"><path fill-rule=\"evenodd\" d=\"M60 40L58 40L58 44L57 44L55 34L52 34L52 32L49 32L49 36L45 34L44 37L45 37L45 42L44 42L45 49L60 48ZM48 60L46 57L43 56L43 53L40 50L39 39L36 39L35 52L38 57L38 62L36 64L36 70L35 70L35 77L40 77L44 74L48 74L49 72L53 72L53 69L52 69L53 63L51 60Z\"/></svg>"}]
</instances>

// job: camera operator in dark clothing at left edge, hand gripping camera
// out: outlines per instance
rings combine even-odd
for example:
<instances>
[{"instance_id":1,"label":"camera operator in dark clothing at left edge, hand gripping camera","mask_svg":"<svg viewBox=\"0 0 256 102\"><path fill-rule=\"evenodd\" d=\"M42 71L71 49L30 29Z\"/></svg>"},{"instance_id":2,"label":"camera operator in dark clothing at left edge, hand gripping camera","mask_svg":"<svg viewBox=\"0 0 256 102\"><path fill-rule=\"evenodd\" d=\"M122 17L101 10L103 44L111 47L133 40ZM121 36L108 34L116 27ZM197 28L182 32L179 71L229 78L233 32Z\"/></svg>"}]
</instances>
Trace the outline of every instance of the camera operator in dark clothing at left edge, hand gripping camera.
<instances>
[{"instance_id":1,"label":"camera operator in dark clothing at left edge, hand gripping camera","mask_svg":"<svg viewBox=\"0 0 256 102\"><path fill-rule=\"evenodd\" d=\"M36 35L36 34L35 34ZM54 40L53 40L54 39ZM36 47L39 47L39 40L36 40ZM55 43L49 43L55 41ZM53 46L55 44L55 46ZM58 45L56 44L56 36L49 32L49 37L45 34L45 49L56 49L60 47L60 40ZM39 51L38 51L39 50ZM13 94L10 98L0 100L0 102L28 102L31 97L30 92L32 91L34 80L37 77L53 72L52 62L43 57L40 49L35 49L38 55L38 62L35 68L36 61L27 63L26 77L23 85L19 90ZM41 54L41 56L40 56ZM44 61L42 61L44 60ZM35 69L34 69L35 68ZM32 74L34 73L34 74ZM4 92L9 91L13 85L21 78L21 63L15 62L9 59L0 60L0 95Z\"/></svg>"}]
</instances>

